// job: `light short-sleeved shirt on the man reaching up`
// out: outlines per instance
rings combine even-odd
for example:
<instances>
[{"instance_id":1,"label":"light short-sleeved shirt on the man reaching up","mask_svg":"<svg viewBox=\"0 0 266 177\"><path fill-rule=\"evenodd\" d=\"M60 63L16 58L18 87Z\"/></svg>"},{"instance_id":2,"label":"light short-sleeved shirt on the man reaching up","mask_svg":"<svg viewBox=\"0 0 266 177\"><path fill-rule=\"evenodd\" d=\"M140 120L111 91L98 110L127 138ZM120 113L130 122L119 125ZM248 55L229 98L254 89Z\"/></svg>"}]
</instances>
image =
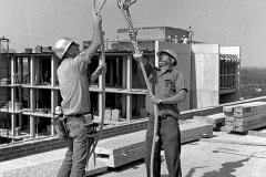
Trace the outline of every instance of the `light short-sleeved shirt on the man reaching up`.
<instances>
[{"instance_id":1,"label":"light short-sleeved shirt on the man reaching up","mask_svg":"<svg viewBox=\"0 0 266 177\"><path fill-rule=\"evenodd\" d=\"M85 69L90 63L85 52L74 59L64 59L58 69L61 106L64 115L90 112L90 91Z\"/></svg>"}]
</instances>

